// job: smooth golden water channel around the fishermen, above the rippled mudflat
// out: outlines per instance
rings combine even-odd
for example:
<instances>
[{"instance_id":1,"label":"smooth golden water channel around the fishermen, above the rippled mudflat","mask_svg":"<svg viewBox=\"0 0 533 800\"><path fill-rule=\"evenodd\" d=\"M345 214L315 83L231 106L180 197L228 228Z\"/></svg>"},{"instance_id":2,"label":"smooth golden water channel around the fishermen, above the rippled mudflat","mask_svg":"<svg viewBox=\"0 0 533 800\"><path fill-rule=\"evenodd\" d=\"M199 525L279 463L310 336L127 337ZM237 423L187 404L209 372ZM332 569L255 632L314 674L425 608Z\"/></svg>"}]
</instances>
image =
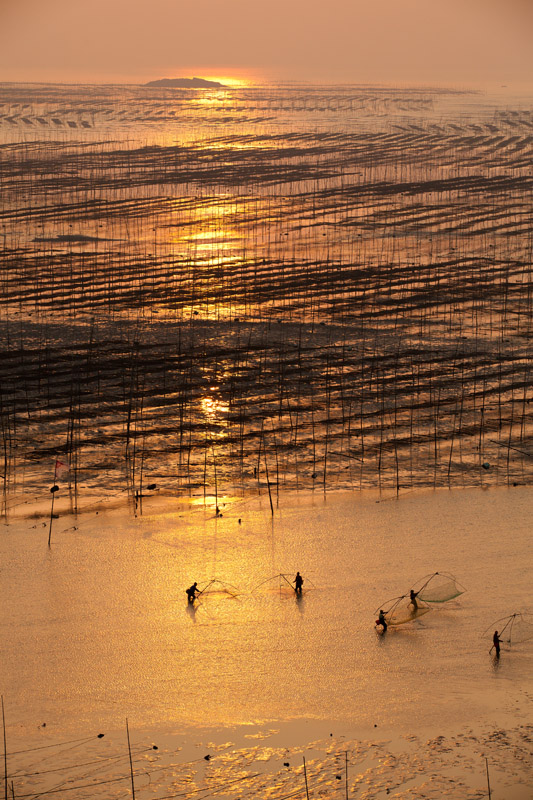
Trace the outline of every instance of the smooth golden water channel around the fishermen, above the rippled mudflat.
<instances>
[{"instance_id":1,"label":"smooth golden water channel around the fishermen, above the rippled mudflat","mask_svg":"<svg viewBox=\"0 0 533 800\"><path fill-rule=\"evenodd\" d=\"M0 536L1 689L15 736L43 721L233 725L316 718L409 730L530 717L533 645L489 656L533 611L531 490L287 497L142 518L100 512ZM242 522L239 524L238 519ZM308 591L254 587L299 569ZM467 592L378 636L376 609L434 571ZM239 587L191 608L184 589ZM274 582L275 585L276 582Z\"/></svg>"}]
</instances>

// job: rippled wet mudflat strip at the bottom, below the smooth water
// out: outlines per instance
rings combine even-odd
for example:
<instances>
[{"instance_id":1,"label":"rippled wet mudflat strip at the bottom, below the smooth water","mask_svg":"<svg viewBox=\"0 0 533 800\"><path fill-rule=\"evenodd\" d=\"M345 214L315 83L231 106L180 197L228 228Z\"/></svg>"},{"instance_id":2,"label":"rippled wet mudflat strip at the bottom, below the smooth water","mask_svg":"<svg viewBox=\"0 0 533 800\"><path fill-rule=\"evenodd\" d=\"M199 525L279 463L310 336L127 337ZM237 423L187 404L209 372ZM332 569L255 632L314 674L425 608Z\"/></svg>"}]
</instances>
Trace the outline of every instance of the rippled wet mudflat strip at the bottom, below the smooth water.
<instances>
[{"instance_id":1,"label":"rippled wet mudflat strip at the bottom, below the smooth water","mask_svg":"<svg viewBox=\"0 0 533 800\"><path fill-rule=\"evenodd\" d=\"M532 797L532 724L436 731L354 730L317 720L179 732L130 727L136 796L305 797L307 779L310 797L480 798L488 780L494 797ZM58 787L69 797L129 793L125 729L81 746L57 741L41 729L34 746L46 749L9 756L19 796Z\"/></svg>"}]
</instances>

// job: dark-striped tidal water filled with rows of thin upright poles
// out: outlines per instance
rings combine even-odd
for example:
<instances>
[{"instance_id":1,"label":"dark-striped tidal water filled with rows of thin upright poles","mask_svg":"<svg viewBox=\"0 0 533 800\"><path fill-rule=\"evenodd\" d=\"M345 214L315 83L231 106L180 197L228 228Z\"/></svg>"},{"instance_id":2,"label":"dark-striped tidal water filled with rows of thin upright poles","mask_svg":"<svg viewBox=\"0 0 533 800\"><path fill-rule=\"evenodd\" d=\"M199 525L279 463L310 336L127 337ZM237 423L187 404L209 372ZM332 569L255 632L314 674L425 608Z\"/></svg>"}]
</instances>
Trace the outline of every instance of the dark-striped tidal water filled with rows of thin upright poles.
<instances>
[{"instance_id":1,"label":"dark-striped tidal water filled with rows of thin upright poles","mask_svg":"<svg viewBox=\"0 0 533 800\"><path fill-rule=\"evenodd\" d=\"M531 483L532 128L503 90L0 83L2 513L58 453L73 510Z\"/></svg>"}]
</instances>

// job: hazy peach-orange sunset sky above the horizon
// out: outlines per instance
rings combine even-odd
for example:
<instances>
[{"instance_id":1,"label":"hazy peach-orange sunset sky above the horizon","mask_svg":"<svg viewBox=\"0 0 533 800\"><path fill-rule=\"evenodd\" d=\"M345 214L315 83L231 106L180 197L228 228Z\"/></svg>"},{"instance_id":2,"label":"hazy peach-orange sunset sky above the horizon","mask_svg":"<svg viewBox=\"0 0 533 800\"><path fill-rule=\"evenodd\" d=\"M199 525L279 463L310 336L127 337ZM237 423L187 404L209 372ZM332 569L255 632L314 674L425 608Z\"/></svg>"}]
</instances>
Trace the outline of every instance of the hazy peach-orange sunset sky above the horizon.
<instances>
[{"instance_id":1,"label":"hazy peach-orange sunset sky above the horizon","mask_svg":"<svg viewBox=\"0 0 533 800\"><path fill-rule=\"evenodd\" d=\"M533 0L0 0L0 81L533 85Z\"/></svg>"}]
</instances>

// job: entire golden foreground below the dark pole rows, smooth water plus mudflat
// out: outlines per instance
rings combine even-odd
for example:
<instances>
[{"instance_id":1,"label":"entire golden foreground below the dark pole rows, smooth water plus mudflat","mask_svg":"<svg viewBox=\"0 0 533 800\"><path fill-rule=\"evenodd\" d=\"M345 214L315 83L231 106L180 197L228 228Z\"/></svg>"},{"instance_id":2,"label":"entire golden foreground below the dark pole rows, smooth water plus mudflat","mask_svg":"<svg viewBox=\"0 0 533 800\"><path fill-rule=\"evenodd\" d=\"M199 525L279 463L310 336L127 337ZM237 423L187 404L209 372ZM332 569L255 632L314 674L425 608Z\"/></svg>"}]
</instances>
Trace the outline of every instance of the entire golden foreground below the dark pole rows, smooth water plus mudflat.
<instances>
[{"instance_id":1,"label":"entire golden foreground below the dark pole rows, smooth water plus mudflat","mask_svg":"<svg viewBox=\"0 0 533 800\"><path fill-rule=\"evenodd\" d=\"M528 487L302 493L273 517L268 496L219 498L216 518L154 500L61 517L50 549L44 517L4 525L10 775L31 796L125 796L127 718L141 796L303 793L306 756L327 796L474 798L489 756L499 796L529 798L533 643L489 648L494 620L533 610L530 503ZM301 600L259 586L297 569ZM376 609L439 570L467 591L379 636ZM190 607L185 587L214 577L237 596Z\"/></svg>"}]
</instances>

